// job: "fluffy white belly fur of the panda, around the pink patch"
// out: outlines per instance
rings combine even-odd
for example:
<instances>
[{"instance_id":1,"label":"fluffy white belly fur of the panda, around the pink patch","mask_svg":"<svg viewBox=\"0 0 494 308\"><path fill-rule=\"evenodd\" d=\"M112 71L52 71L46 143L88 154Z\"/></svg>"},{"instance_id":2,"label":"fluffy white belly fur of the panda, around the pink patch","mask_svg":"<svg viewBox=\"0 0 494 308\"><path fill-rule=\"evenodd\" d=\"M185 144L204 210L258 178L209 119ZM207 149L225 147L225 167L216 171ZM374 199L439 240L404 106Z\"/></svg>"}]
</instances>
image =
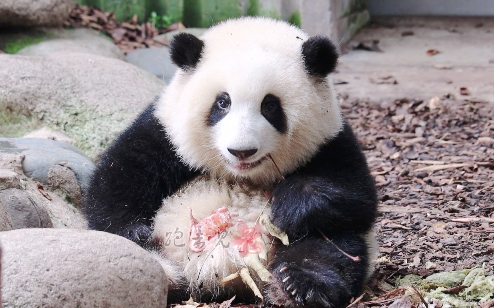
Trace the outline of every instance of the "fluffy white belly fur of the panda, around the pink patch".
<instances>
[{"instance_id":1,"label":"fluffy white belly fur of the panda, around the pink patch","mask_svg":"<svg viewBox=\"0 0 494 308\"><path fill-rule=\"evenodd\" d=\"M227 184L208 176L199 176L187 187L165 199L154 222L154 236L164 243L163 251L156 253L172 285L184 285L195 293L220 292L221 280L245 268L239 249L230 243L239 236L239 219L253 228L259 215L270 215L267 198L262 190L253 190L241 184ZM195 252L189 248L190 211L202 220L218 208L227 207L236 222L228 229L222 243L209 251ZM245 226L245 225L244 225ZM242 227L240 227L242 230ZM262 238L270 248L271 237L263 232ZM227 246L230 243L229 247ZM255 279L255 276L254 276ZM201 287L200 287L201 286Z\"/></svg>"}]
</instances>

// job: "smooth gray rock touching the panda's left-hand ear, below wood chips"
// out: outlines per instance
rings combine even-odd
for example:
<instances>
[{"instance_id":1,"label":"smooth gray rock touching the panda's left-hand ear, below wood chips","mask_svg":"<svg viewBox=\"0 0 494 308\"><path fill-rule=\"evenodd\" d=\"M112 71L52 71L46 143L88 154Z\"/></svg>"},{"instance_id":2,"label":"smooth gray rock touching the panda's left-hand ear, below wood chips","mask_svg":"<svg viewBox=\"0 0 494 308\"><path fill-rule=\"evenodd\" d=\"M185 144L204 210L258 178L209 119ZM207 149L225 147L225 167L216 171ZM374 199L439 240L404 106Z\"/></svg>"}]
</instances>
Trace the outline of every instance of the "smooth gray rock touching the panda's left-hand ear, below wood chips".
<instances>
[{"instance_id":1,"label":"smooth gray rock touching the panda's left-hand ear, below wood chips","mask_svg":"<svg viewBox=\"0 0 494 308\"><path fill-rule=\"evenodd\" d=\"M166 83L170 81L177 70L171 62L168 47L137 49L127 55L127 62L149 71Z\"/></svg>"}]
</instances>

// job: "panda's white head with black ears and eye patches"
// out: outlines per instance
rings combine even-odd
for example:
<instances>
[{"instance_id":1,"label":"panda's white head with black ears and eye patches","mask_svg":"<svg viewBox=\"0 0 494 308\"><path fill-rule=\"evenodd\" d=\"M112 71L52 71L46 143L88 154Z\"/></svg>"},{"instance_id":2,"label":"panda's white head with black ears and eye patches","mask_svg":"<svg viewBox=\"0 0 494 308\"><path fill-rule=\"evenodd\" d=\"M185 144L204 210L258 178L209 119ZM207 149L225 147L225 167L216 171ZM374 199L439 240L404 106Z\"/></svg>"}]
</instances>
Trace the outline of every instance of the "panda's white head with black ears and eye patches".
<instances>
[{"instance_id":1,"label":"panda's white head with black ears and eye patches","mask_svg":"<svg viewBox=\"0 0 494 308\"><path fill-rule=\"evenodd\" d=\"M334 45L282 21L241 18L178 34L178 71L157 103L192 168L265 183L306 163L342 129L329 78Z\"/></svg>"}]
</instances>

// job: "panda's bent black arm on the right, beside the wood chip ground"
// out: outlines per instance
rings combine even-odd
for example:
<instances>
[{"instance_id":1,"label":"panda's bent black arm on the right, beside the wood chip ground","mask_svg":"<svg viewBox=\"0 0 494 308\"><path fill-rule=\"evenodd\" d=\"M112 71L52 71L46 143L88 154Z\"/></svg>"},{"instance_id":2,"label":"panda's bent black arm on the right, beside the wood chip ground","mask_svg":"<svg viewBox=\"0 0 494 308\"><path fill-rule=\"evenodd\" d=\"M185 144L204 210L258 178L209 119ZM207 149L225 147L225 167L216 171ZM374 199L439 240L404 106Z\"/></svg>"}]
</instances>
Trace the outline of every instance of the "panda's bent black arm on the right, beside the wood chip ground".
<instances>
[{"instance_id":1,"label":"panda's bent black arm on the right, beside the wood chip ground","mask_svg":"<svg viewBox=\"0 0 494 308\"><path fill-rule=\"evenodd\" d=\"M288 237L363 233L377 213L377 193L350 126L323 145L305 166L273 191L272 219Z\"/></svg>"}]
</instances>

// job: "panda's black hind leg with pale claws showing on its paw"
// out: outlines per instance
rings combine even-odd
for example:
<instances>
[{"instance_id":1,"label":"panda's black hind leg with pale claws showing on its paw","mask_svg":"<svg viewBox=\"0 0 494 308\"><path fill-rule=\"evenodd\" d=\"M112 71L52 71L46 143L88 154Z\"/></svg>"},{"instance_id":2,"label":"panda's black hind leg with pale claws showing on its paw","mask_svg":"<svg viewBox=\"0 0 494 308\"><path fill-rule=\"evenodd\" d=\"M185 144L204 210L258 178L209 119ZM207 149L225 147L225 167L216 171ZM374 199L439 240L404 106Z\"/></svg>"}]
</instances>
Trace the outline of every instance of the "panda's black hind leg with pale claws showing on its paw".
<instances>
[{"instance_id":1,"label":"panda's black hind leg with pale claws showing on its paw","mask_svg":"<svg viewBox=\"0 0 494 308\"><path fill-rule=\"evenodd\" d=\"M333 243L352 256L355 262L322 238L303 239L280 247L269 270L266 299L291 307L346 307L362 292L368 268L368 249L360 236L332 237Z\"/></svg>"}]
</instances>

